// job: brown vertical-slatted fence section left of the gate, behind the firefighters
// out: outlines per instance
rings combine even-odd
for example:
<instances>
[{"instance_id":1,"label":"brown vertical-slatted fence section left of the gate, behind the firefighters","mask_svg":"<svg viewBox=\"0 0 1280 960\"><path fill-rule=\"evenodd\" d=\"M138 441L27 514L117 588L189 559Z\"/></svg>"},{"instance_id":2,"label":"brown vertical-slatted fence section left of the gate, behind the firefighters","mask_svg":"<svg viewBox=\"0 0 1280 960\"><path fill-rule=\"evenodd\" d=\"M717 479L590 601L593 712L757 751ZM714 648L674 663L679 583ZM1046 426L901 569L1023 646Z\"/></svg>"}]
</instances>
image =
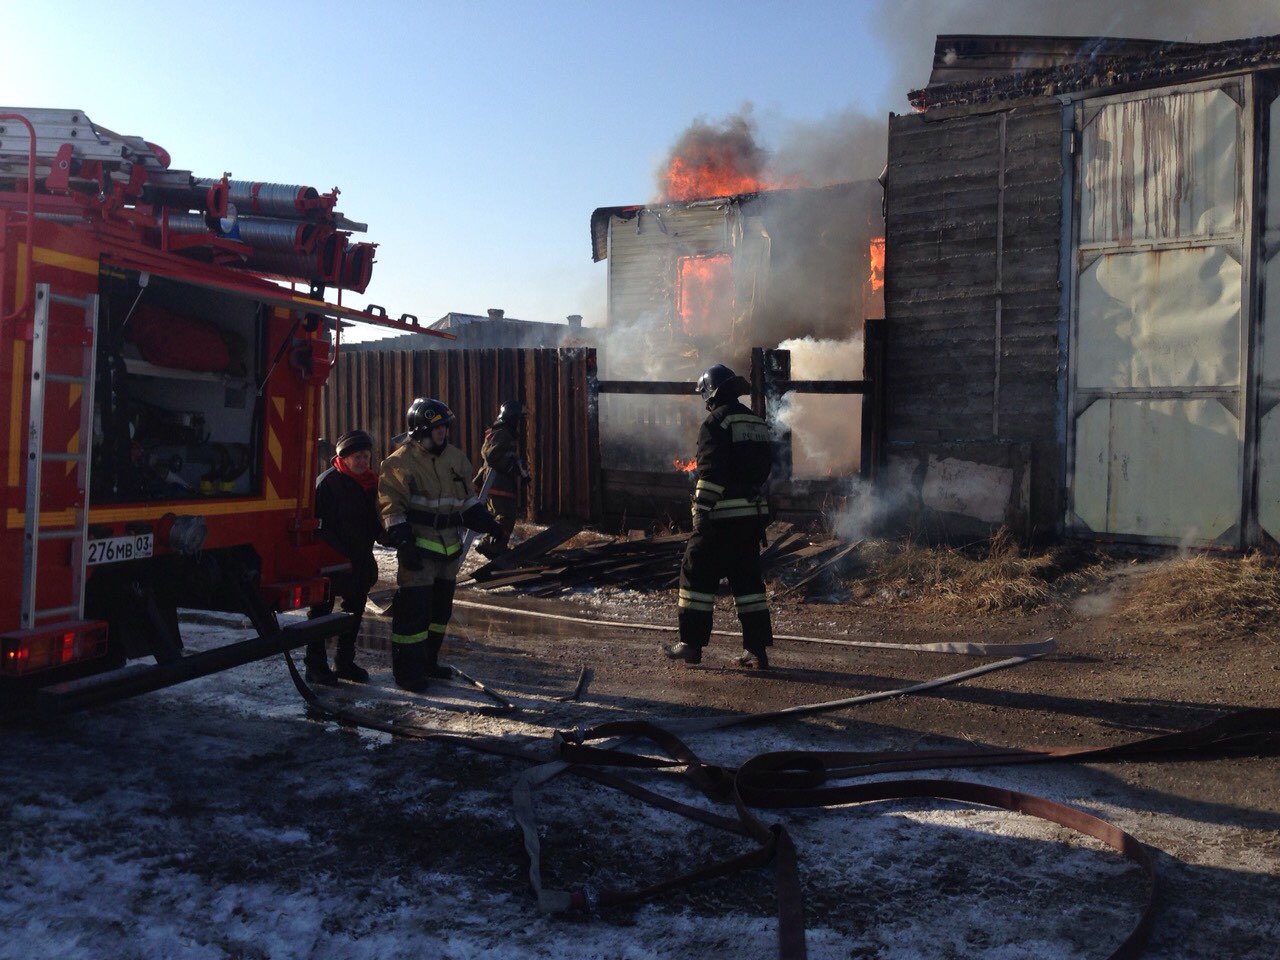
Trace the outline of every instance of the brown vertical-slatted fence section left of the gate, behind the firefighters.
<instances>
[{"instance_id":1,"label":"brown vertical-slatted fence section left of the gate, behind the firefighters","mask_svg":"<svg viewBox=\"0 0 1280 960\"><path fill-rule=\"evenodd\" d=\"M485 428L507 399L529 411L525 449L532 472L529 518L589 520L599 512L595 351L447 349L339 353L325 385L321 436L362 428L385 456L415 397L435 397L458 417L451 435L479 465Z\"/></svg>"}]
</instances>

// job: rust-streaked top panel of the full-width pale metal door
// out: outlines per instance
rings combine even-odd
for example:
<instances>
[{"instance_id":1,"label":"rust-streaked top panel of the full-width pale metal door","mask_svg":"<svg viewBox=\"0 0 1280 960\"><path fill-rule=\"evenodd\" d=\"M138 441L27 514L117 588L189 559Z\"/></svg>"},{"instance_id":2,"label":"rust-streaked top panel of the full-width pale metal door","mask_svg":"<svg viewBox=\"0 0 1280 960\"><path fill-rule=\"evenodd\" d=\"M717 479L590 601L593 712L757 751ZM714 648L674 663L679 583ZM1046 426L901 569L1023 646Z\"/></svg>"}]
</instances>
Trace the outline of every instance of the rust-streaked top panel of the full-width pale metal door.
<instances>
[{"instance_id":1,"label":"rust-streaked top panel of the full-width pale metal door","mask_svg":"<svg viewBox=\"0 0 1280 960\"><path fill-rule=\"evenodd\" d=\"M1240 105L1222 90L1103 106L1080 145L1080 242L1239 230L1239 125Z\"/></svg>"}]
</instances>

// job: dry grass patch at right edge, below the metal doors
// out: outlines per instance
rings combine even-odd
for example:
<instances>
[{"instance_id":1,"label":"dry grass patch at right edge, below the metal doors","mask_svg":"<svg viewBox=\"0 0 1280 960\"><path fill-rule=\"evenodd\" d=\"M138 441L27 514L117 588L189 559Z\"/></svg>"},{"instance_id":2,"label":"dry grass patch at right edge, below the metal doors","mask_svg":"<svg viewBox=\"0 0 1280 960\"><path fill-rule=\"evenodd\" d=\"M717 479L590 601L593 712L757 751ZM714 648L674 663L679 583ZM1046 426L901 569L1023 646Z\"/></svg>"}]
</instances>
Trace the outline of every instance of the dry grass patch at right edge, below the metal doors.
<instances>
[{"instance_id":1,"label":"dry grass patch at right edge, below the metal doors","mask_svg":"<svg viewBox=\"0 0 1280 960\"><path fill-rule=\"evenodd\" d=\"M1194 554L1160 563L1133 584L1124 612L1148 622L1201 621L1230 628L1276 628L1280 558Z\"/></svg>"}]
</instances>

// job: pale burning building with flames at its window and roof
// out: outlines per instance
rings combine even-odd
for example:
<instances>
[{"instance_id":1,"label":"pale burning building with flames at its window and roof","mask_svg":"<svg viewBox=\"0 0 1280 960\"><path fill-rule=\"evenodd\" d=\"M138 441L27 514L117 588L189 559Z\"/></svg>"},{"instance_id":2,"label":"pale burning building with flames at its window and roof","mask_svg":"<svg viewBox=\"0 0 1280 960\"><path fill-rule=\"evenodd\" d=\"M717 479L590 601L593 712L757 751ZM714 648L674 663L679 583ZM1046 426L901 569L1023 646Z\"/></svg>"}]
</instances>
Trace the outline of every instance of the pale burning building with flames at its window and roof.
<instances>
[{"instance_id":1,"label":"pale burning building with flames at its window and roof","mask_svg":"<svg viewBox=\"0 0 1280 960\"><path fill-rule=\"evenodd\" d=\"M754 347L790 338L860 344L864 319L882 314L879 183L685 196L723 183L699 189L687 169L671 183L682 198L591 215L593 257L608 261L602 376L691 381L714 362L745 372ZM860 347L849 366L841 375L860 379ZM856 462L858 407L841 402ZM691 448L704 415L687 398L602 397L602 447L654 468Z\"/></svg>"}]
</instances>

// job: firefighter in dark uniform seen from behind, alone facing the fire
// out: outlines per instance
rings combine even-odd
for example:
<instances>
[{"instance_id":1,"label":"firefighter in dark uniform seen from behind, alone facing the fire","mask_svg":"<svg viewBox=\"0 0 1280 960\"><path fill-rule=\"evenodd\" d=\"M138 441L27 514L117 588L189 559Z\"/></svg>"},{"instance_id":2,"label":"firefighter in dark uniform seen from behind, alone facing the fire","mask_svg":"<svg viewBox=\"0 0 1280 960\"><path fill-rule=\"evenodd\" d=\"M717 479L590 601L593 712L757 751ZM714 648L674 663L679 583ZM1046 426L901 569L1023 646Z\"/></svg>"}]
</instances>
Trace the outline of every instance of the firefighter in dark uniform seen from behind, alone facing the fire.
<instances>
[{"instance_id":1,"label":"firefighter in dark uniform seen from behind, alone facing the fire","mask_svg":"<svg viewBox=\"0 0 1280 960\"><path fill-rule=\"evenodd\" d=\"M680 566L680 643L662 649L673 660L701 663L712 635L721 577L728 577L742 625L737 663L767 669L773 625L760 576L760 543L768 524L765 488L773 467L768 425L739 397L745 379L716 364L698 380L710 415L698 433L694 532Z\"/></svg>"}]
</instances>

